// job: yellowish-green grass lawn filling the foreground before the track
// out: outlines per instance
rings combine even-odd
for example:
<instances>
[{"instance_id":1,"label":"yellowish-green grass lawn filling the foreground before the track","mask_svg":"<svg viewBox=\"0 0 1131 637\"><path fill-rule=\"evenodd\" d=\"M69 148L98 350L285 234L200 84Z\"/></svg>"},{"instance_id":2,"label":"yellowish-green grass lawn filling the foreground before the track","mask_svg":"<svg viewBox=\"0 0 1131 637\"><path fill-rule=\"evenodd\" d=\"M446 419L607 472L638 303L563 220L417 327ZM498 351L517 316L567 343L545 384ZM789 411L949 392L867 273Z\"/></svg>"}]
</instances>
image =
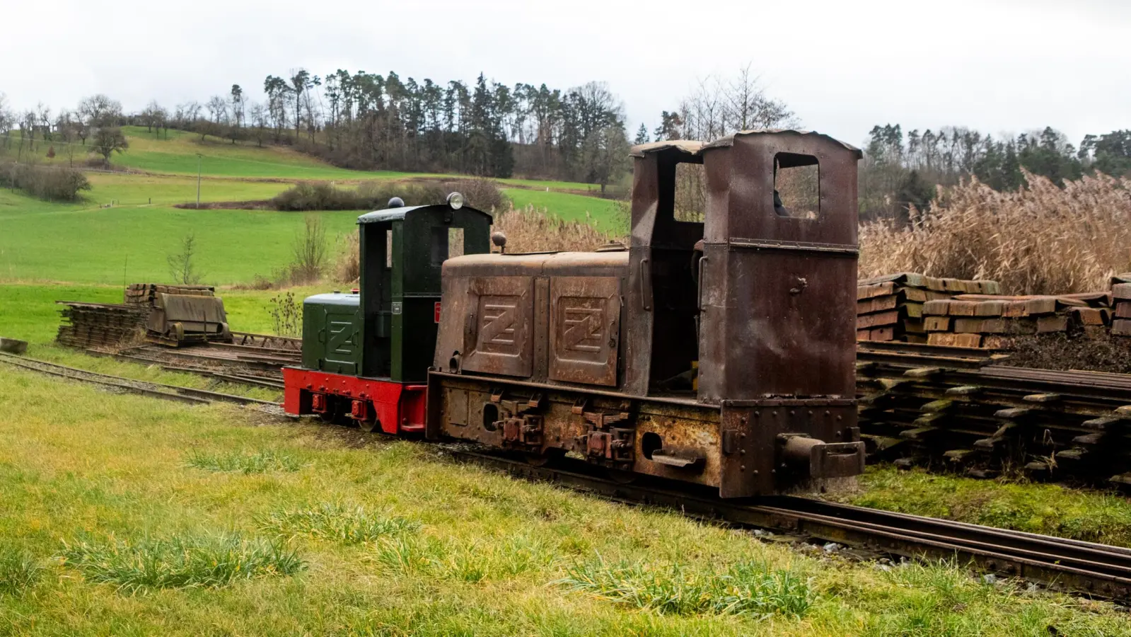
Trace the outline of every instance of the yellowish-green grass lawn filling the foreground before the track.
<instances>
[{"instance_id":1,"label":"yellowish-green grass lawn filling the foreground before the track","mask_svg":"<svg viewBox=\"0 0 1131 637\"><path fill-rule=\"evenodd\" d=\"M804 554L411 442L0 385L3 634L1131 632L1105 604Z\"/></svg>"}]
</instances>

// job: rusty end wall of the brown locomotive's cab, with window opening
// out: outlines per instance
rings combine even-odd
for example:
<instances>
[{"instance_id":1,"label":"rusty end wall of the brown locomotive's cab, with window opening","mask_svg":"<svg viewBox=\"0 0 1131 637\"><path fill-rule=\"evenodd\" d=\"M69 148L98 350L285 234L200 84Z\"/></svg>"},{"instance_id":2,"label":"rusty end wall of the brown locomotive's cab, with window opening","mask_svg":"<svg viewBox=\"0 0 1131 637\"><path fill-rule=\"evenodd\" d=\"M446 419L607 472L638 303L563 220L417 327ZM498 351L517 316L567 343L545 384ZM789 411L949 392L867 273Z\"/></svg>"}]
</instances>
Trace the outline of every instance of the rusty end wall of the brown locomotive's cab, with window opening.
<instances>
[{"instance_id":1,"label":"rusty end wall of the brown locomotive's cab, with window opening","mask_svg":"<svg viewBox=\"0 0 1131 637\"><path fill-rule=\"evenodd\" d=\"M739 135L702 155L700 399L852 397L858 152L783 132ZM815 216L776 208L778 156L783 170L817 162Z\"/></svg>"}]
</instances>

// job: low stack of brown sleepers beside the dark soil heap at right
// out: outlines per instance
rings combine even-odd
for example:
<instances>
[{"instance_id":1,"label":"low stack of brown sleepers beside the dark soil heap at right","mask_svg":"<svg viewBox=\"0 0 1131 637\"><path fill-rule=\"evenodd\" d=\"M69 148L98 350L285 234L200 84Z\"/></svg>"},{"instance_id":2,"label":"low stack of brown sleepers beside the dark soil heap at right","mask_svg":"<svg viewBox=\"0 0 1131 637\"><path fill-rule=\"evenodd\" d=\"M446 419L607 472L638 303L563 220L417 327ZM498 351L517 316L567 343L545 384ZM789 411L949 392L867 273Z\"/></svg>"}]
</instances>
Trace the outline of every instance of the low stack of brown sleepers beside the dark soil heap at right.
<instances>
[{"instance_id":1,"label":"low stack of brown sleepers beside the dark soil heap at right","mask_svg":"<svg viewBox=\"0 0 1131 637\"><path fill-rule=\"evenodd\" d=\"M1090 292L1055 296L959 294L948 300L927 301L923 305L926 342L961 347L1008 347L1015 336L1056 334L1077 328L1102 336L1112 322L1111 300L1107 292Z\"/></svg>"}]
</instances>

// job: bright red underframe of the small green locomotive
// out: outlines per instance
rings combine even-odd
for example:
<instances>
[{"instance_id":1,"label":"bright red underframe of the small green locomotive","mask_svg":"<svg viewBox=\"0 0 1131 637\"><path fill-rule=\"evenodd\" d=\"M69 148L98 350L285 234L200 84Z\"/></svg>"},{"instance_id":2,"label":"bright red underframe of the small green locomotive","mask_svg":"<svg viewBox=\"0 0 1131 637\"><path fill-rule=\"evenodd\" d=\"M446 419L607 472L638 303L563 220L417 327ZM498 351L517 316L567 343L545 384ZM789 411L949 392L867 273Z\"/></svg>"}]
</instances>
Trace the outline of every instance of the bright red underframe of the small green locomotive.
<instances>
[{"instance_id":1,"label":"bright red underframe of the small green locomotive","mask_svg":"<svg viewBox=\"0 0 1131 637\"><path fill-rule=\"evenodd\" d=\"M283 368L283 410L356 423L365 431L422 433L425 386Z\"/></svg>"}]
</instances>

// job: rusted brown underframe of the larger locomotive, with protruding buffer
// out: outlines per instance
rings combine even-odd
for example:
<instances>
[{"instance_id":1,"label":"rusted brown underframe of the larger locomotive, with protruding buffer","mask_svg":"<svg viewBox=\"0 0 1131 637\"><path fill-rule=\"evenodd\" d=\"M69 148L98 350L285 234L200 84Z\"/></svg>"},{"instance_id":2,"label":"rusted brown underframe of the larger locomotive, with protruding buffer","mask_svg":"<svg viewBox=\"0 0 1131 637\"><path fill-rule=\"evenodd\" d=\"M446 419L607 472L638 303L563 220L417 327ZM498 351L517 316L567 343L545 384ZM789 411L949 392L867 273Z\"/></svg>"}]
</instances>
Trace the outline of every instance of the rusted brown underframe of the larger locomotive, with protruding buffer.
<instances>
[{"instance_id":1,"label":"rusted brown underframe of the larger locomotive, with protruding buffer","mask_svg":"<svg viewBox=\"0 0 1131 637\"><path fill-rule=\"evenodd\" d=\"M863 471L852 401L692 399L429 375L428 437L569 454L610 468L714 487L724 498L819 488ZM823 444L821 440L836 440Z\"/></svg>"}]
</instances>

